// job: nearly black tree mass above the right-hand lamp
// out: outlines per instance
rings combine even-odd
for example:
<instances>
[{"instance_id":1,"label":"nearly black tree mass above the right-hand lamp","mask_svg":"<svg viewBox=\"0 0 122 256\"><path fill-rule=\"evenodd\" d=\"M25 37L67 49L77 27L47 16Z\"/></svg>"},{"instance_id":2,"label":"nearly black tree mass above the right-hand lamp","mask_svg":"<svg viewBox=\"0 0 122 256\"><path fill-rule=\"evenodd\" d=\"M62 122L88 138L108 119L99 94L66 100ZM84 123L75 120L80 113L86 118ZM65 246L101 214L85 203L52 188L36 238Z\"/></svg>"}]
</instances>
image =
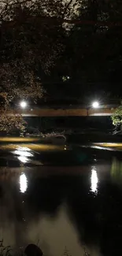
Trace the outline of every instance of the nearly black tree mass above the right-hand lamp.
<instances>
[{"instance_id":1,"label":"nearly black tree mass above the right-hand lamp","mask_svg":"<svg viewBox=\"0 0 122 256\"><path fill-rule=\"evenodd\" d=\"M83 0L68 32L65 52L55 72L69 76L61 85L65 95L83 97L93 91L121 94L122 82L121 1ZM53 73L54 75L54 73ZM58 79L59 83L61 80ZM58 90L58 88L57 88Z\"/></svg>"}]
</instances>

